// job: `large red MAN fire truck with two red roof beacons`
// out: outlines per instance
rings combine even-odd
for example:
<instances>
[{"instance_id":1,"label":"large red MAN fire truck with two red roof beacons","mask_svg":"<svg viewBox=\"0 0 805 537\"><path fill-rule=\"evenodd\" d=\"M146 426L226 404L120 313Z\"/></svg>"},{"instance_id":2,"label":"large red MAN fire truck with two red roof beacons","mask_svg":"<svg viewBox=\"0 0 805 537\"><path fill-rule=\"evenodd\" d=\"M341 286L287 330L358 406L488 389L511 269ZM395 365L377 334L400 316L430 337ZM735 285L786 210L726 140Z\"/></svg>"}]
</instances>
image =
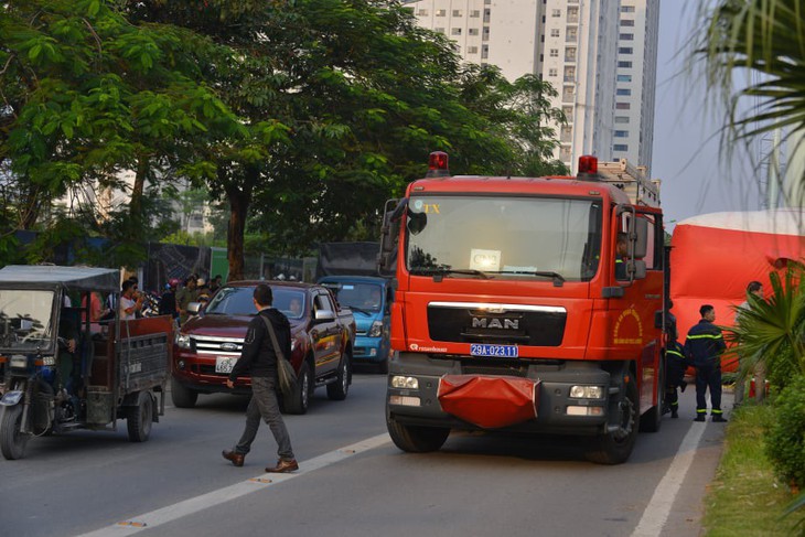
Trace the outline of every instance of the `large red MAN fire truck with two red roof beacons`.
<instances>
[{"instance_id":1,"label":"large red MAN fire truck with two red roof beacons","mask_svg":"<svg viewBox=\"0 0 805 537\"><path fill-rule=\"evenodd\" d=\"M590 461L624 462L662 418L656 185L625 161L599 173L593 157L577 176L452 176L447 164L432 153L428 175L386 204L391 439L427 452L452 429L578 434Z\"/></svg>"}]
</instances>

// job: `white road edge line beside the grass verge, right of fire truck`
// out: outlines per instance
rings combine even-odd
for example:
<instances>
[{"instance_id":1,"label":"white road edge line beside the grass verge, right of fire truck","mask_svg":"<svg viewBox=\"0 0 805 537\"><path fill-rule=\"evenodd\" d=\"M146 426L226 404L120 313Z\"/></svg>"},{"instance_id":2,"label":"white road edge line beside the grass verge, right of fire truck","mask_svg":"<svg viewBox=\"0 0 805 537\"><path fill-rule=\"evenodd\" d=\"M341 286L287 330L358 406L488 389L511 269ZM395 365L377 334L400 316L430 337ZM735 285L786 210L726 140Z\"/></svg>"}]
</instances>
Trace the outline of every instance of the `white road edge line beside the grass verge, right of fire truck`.
<instances>
[{"instance_id":1,"label":"white road edge line beside the grass verge, right of fire truck","mask_svg":"<svg viewBox=\"0 0 805 537\"><path fill-rule=\"evenodd\" d=\"M690 465L694 463L696 449L699 445L701 436L705 433L705 423L694 423L688 433L685 434L674 460L670 462L670 466L668 466L668 471L665 472L663 480L654 490L654 495L643 512L643 517L637 523L637 527L634 528L632 537L656 537L662 535L663 526L668 519L676 495L685 481L685 475L687 475Z\"/></svg>"}]
</instances>

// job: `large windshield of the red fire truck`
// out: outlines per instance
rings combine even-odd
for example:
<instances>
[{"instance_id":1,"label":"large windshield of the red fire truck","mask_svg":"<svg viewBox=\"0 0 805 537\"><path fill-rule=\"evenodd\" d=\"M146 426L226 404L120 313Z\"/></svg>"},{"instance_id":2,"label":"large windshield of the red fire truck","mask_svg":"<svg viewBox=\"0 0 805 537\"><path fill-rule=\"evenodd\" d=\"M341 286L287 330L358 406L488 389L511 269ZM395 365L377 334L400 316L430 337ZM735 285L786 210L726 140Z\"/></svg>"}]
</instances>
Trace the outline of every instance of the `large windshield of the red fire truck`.
<instances>
[{"instance_id":1,"label":"large windshield of the red fire truck","mask_svg":"<svg viewBox=\"0 0 805 537\"><path fill-rule=\"evenodd\" d=\"M406 267L412 275L589 281L601 215L592 198L412 195Z\"/></svg>"}]
</instances>

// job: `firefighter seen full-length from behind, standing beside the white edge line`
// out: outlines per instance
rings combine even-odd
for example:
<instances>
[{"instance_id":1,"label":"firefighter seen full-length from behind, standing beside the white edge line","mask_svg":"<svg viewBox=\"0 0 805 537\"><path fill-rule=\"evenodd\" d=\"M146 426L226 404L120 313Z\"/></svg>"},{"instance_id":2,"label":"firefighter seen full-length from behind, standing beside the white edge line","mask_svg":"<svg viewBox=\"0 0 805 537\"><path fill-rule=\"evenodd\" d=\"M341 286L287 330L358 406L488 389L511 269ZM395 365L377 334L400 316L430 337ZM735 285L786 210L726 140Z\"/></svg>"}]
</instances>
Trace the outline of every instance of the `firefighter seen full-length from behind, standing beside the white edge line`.
<instances>
[{"instance_id":1,"label":"firefighter seen full-length from behind, standing beside the white edge line","mask_svg":"<svg viewBox=\"0 0 805 537\"><path fill-rule=\"evenodd\" d=\"M707 399L710 388L710 415L712 421L727 421L721 411L721 353L727 348L721 329L712 324L716 310L710 304L699 308L701 320L688 331L685 354L696 367L696 418L705 421Z\"/></svg>"}]
</instances>

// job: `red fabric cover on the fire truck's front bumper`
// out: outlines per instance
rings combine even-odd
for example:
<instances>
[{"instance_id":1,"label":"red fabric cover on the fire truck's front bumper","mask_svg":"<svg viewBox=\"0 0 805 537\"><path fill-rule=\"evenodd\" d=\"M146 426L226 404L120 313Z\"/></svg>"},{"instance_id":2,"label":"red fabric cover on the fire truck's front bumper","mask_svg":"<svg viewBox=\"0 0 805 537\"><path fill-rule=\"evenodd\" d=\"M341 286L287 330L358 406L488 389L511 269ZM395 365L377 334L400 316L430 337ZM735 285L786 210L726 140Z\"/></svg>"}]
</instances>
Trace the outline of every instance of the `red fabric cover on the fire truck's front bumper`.
<instances>
[{"instance_id":1,"label":"red fabric cover on the fire truck's front bumper","mask_svg":"<svg viewBox=\"0 0 805 537\"><path fill-rule=\"evenodd\" d=\"M496 429L537 417L539 380L444 375L437 395L443 411L484 429Z\"/></svg>"}]
</instances>

